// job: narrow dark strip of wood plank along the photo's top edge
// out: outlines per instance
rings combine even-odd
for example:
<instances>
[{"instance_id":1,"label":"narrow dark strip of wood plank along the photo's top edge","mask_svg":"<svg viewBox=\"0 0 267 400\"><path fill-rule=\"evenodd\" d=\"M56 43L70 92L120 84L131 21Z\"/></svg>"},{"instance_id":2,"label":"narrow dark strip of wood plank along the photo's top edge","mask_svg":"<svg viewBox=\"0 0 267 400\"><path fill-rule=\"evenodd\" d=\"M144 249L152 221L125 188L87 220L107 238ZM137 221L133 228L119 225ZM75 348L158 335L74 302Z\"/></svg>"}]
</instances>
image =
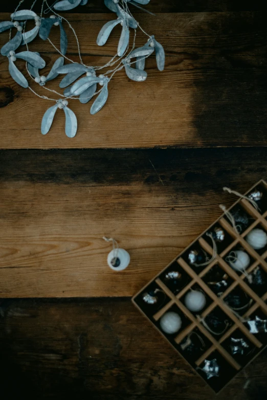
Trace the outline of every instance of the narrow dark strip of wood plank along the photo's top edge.
<instances>
[{"instance_id":1,"label":"narrow dark strip of wood plank along the photo's top edge","mask_svg":"<svg viewBox=\"0 0 267 400\"><path fill-rule=\"evenodd\" d=\"M2 12L13 12L18 4L17 0L4 2L1 5ZM26 0L23 7L29 8L32 5L32 0ZM142 11L130 6L132 12L140 13ZM166 12L210 12L210 11L257 11L266 10L266 3L264 0L180 0L179 2L173 0L151 0L148 5L144 7L146 10L153 13L166 13ZM34 8L38 11L38 7ZM79 6L72 10L74 13L100 13L109 12L104 5L104 0L89 1L86 6ZM111 11L110 11L111 12Z\"/></svg>"}]
</instances>

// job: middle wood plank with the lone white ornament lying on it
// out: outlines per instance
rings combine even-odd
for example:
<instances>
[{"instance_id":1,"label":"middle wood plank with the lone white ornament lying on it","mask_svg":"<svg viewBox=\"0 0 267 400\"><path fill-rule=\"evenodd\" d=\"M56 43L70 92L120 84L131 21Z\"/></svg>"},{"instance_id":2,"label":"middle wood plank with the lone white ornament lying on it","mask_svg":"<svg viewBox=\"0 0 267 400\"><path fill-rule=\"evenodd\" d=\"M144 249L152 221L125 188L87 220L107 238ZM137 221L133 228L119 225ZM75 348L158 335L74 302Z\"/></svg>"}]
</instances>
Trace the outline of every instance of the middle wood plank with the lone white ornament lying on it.
<instances>
[{"instance_id":1,"label":"middle wood plank with the lone white ornament lying on it","mask_svg":"<svg viewBox=\"0 0 267 400\"><path fill-rule=\"evenodd\" d=\"M266 150L2 151L0 296L131 296L266 178ZM129 268L106 265L118 240Z\"/></svg>"}]
</instances>

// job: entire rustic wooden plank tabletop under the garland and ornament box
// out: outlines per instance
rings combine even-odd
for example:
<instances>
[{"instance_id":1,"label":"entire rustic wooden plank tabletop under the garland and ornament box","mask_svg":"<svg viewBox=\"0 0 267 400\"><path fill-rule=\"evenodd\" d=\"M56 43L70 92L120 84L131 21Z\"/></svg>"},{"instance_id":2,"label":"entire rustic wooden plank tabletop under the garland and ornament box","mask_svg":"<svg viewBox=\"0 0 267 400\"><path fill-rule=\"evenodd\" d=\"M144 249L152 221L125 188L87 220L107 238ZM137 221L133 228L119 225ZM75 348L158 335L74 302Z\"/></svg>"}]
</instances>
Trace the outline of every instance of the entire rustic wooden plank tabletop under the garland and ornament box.
<instances>
[{"instance_id":1,"label":"entire rustic wooden plank tabletop under the garland and ornament box","mask_svg":"<svg viewBox=\"0 0 267 400\"><path fill-rule=\"evenodd\" d=\"M1 5L0 20L14 8L14 0ZM51 104L19 87L0 59L0 371L6 398L215 398L130 296L219 217L220 203L235 200L223 186L243 193L267 178L266 5L151 0L146 8L156 15L137 10L137 19L164 45L166 69L160 73L151 57L146 82L119 73L95 116L86 105L71 104L78 119L74 139L65 136L60 113L41 135L41 117ZM102 48L95 43L113 18L102 0L68 18L86 63L101 65L115 53L118 32ZM71 58L78 60L68 36ZM0 46L7 40L2 33ZM49 69L57 57L49 43L37 39L29 47L44 52ZM106 265L111 247L104 235L130 253L122 273ZM265 356L216 398L265 398Z\"/></svg>"}]
</instances>

